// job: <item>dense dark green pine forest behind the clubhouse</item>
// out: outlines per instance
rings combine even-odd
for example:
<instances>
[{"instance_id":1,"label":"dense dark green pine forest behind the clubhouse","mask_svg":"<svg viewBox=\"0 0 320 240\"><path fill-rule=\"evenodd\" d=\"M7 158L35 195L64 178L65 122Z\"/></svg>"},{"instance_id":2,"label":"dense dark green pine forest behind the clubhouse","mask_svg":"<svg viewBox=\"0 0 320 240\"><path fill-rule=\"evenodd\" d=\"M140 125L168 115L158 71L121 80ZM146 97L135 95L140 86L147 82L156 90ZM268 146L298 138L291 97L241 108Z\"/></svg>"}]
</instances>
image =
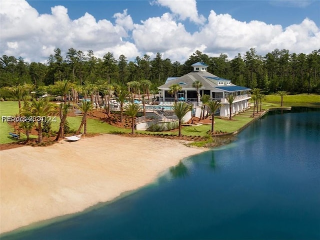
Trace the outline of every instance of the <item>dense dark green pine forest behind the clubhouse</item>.
<instances>
[{"instance_id":1,"label":"dense dark green pine forest behind the clubhouse","mask_svg":"<svg viewBox=\"0 0 320 240\"><path fill-rule=\"evenodd\" d=\"M229 79L235 85L263 89L265 94L278 91L320 93L320 49L310 54L290 54L289 50L275 49L260 56L251 48L243 56L237 54L231 60L225 54L210 57L195 51L181 64L162 59L160 53L153 59L143 55L128 61L124 55L115 59L108 52L102 58L96 58L92 50L85 55L73 48L62 56L57 48L46 64L26 63L21 57L3 55L0 58L0 87L33 84L41 88L67 80L79 86L102 82L123 88L134 85L138 91L142 91L147 83L148 88L156 90L168 77L180 77L192 71L191 65L195 62L207 64L208 72Z\"/></svg>"}]
</instances>

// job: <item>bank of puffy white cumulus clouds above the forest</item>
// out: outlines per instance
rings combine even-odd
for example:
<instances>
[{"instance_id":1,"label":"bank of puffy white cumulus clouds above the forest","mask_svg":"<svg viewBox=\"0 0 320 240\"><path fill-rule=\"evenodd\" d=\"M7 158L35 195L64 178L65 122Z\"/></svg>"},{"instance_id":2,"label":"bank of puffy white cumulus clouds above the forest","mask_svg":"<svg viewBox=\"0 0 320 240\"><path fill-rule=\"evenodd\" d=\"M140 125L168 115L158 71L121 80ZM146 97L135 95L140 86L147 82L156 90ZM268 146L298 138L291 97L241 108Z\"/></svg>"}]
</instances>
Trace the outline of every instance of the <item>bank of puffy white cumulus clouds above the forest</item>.
<instances>
[{"instance_id":1,"label":"bank of puffy white cumulus clouds above the forest","mask_svg":"<svg viewBox=\"0 0 320 240\"><path fill-rule=\"evenodd\" d=\"M224 53L234 58L250 48L262 56L275 48L297 54L320 49L319 27L307 18L283 29L281 25L260 21L241 22L214 10L204 19L196 10L195 0L156 3L169 8L170 13L134 23L126 9L114 13L111 20L97 21L90 13L72 20L63 6L53 6L50 14L41 15L24 0L2 0L0 56L44 62L56 48L63 55L74 48L84 53L92 50L98 58L107 52L116 59L123 54L128 60L144 54L152 59L158 52L163 59L183 63L196 50L210 56ZM195 32L186 30L185 24L189 22L199 24L194 25Z\"/></svg>"}]
</instances>

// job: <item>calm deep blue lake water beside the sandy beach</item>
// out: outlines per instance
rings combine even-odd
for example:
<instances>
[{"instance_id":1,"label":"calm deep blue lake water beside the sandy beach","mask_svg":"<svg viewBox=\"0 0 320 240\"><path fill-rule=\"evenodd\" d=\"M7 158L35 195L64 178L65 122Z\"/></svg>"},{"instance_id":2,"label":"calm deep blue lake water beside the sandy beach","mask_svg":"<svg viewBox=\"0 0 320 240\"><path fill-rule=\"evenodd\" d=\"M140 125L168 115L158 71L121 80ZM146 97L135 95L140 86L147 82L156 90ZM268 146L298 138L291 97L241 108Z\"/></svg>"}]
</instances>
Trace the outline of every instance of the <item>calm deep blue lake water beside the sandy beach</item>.
<instances>
[{"instance_id":1,"label":"calm deep blue lake water beside the sandy beach","mask_svg":"<svg viewBox=\"0 0 320 240\"><path fill-rule=\"evenodd\" d=\"M7 239L320 239L320 109L269 112L154 184Z\"/></svg>"}]
</instances>

